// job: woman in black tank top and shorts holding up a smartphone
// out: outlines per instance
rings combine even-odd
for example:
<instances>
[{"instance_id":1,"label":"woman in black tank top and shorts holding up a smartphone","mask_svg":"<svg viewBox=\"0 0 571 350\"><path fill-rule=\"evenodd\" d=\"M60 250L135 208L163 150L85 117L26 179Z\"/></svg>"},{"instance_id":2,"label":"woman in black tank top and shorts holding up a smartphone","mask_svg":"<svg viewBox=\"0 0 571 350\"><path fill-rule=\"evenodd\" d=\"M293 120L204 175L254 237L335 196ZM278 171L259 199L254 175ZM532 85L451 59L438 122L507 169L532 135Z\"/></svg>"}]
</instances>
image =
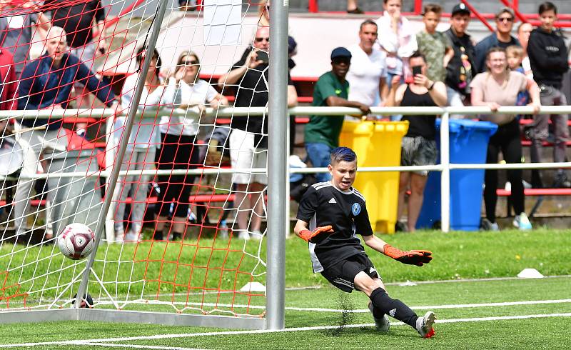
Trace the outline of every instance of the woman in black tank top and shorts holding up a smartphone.
<instances>
[{"instance_id":1,"label":"woman in black tank top and shorts holding up a smartphone","mask_svg":"<svg viewBox=\"0 0 571 350\"><path fill-rule=\"evenodd\" d=\"M442 81L433 81L426 76L426 59L420 52L410 56L413 82L400 85L400 76L393 77L385 106L446 106L446 86ZM403 116L408 121L408 132L403 137L400 155L401 166L436 164L436 127L434 115ZM428 171L401 171L398 188L398 219L403 215L405 193L410 189L408 198L408 223L400 221L396 231L414 231L420 208L423 205L424 187Z\"/></svg>"}]
</instances>

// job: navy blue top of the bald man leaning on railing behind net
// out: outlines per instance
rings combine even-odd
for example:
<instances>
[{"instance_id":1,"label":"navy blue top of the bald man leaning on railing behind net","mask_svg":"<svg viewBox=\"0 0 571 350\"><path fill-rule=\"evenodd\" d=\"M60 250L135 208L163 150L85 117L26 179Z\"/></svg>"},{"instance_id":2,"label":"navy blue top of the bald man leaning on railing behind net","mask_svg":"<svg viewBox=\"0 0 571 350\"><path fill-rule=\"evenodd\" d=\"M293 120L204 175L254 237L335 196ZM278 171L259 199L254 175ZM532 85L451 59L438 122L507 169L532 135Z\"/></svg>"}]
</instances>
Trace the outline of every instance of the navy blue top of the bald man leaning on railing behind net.
<instances>
[{"instance_id":1,"label":"navy blue top of the bald man leaning on railing behind net","mask_svg":"<svg viewBox=\"0 0 571 350\"><path fill-rule=\"evenodd\" d=\"M18 86L18 109L44 109L60 104L64 109L69 104L71 89L76 82L83 84L97 99L111 106L115 94L111 84L99 81L87 66L76 56L64 54L61 66L52 67L53 59L47 54L26 64ZM49 130L61 127L61 118L24 119L24 126L47 125Z\"/></svg>"}]
</instances>

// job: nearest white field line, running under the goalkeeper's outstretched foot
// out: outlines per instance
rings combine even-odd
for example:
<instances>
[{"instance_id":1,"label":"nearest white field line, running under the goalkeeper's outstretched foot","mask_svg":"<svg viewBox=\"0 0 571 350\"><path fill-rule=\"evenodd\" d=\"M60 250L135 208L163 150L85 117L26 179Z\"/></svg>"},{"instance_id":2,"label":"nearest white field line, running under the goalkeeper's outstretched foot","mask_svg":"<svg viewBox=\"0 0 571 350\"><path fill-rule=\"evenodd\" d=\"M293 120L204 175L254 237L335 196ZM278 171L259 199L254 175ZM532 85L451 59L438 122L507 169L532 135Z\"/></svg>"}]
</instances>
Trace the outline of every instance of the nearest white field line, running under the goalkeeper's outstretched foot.
<instances>
[{"instance_id":1,"label":"nearest white field line, running under the goalkeeper's outstretched foot","mask_svg":"<svg viewBox=\"0 0 571 350\"><path fill-rule=\"evenodd\" d=\"M437 320L438 324L454 324L458 322L481 322L481 321L505 321L512 319L542 319L547 317L571 317L571 312L562 314L533 314L533 315L520 315L520 316L490 316L490 317L474 317L471 319L443 319ZM403 322L391 322L391 326L403 326ZM375 324L347 324L345 328L360 328L371 327ZM297 327L286 328L280 330L259 329L253 331L213 331L204 333L183 333L183 334L157 334L154 336L125 336L121 338L103 338L103 339L84 339L84 340L69 340L69 341L44 341L41 343L22 343L22 344L0 344L0 348L10 347L29 347L29 346L45 346L45 345L97 345L98 343L111 343L113 341L139 341L139 340L156 340L156 339L176 339L176 338L194 338L197 336L233 336L238 334L266 334L266 333L280 333L280 332L293 332L293 331L320 331L326 329L338 329L339 326L315 326L315 327ZM114 344L114 346L121 346ZM131 345L128 345L131 347ZM148 348L158 349L158 348ZM176 350L181 348L164 347L160 349ZM184 348L182 348L184 349ZM186 349L185 349L186 350Z\"/></svg>"}]
</instances>

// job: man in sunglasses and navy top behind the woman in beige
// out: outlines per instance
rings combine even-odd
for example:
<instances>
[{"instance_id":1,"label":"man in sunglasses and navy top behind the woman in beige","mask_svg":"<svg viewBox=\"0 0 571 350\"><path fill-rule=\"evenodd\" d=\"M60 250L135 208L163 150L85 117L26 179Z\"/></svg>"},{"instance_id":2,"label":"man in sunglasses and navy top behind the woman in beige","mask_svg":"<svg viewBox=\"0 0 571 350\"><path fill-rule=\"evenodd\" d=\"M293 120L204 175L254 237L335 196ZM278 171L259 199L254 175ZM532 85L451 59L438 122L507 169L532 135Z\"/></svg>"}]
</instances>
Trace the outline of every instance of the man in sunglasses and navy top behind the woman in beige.
<instances>
[{"instance_id":1,"label":"man in sunglasses and navy top behind the woman in beige","mask_svg":"<svg viewBox=\"0 0 571 350\"><path fill-rule=\"evenodd\" d=\"M492 47L500 46L505 49L507 46L520 46L520 41L511 35L514 20L515 16L509 7L502 7L502 9L497 12L495 15L496 31L482 39L475 47L477 73L482 73L482 71L486 70L485 61L487 51Z\"/></svg>"}]
</instances>

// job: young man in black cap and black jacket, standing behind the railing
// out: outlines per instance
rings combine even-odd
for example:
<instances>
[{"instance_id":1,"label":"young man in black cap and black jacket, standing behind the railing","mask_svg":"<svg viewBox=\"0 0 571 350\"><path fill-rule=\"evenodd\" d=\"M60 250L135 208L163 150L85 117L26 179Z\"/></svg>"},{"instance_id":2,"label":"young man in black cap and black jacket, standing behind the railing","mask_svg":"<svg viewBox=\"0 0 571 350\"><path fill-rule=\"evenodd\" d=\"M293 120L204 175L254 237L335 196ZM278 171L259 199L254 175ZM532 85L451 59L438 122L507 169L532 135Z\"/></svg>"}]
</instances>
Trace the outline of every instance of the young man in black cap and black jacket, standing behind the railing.
<instances>
[{"instance_id":1,"label":"young man in black cap and black jacket, standing behind the railing","mask_svg":"<svg viewBox=\"0 0 571 350\"><path fill-rule=\"evenodd\" d=\"M452 9L450 29L445 33L452 42L454 56L446 67L446 86L448 86L448 104L464 106L463 99L470 95L470 81L475 72L474 44L466 29L470 24L470 10L465 4Z\"/></svg>"}]
</instances>

